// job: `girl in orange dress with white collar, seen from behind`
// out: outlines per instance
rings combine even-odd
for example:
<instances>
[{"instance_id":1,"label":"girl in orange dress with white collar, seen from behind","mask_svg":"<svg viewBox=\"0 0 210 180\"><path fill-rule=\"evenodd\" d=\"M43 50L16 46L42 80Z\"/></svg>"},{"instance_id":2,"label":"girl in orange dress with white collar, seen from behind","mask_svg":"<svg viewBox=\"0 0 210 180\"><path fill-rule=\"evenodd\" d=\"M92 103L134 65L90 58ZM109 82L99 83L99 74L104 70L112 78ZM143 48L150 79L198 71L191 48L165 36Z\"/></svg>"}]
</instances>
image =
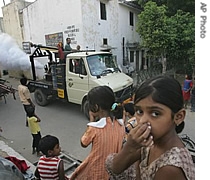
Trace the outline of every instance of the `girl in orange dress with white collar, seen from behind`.
<instances>
[{"instance_id":1,"label":"girl in orange dress with white collar, seen from behind","mask_svg":"<svg viewBox=\"0 0 210 180\"><path fill-rule=\"evenodd\" d=\"M90 123L81 138L81 145L87 147L92 144L92 149L70 179L109 179L105 159L108 154L117 153L122 148L125 134L123 107L115 102L114 92L108 86L94 87L87 98Z\"/></svg>"}]
</instances>

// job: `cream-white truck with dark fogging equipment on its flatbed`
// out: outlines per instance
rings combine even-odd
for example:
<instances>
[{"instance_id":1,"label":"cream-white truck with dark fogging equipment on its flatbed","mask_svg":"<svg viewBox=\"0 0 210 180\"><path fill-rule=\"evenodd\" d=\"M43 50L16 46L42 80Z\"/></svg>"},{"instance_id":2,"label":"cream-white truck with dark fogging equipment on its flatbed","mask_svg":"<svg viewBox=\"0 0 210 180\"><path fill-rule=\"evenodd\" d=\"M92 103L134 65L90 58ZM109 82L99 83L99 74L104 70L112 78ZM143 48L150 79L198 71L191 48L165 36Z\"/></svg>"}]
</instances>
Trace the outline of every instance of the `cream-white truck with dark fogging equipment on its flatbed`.
<instances>
[{"instance_id":1,"label":"cream-white truck with dark fogging equipment on its flatbed","mask_svg":"<svg viewBox=\"0 0 210 180\"><path fill-rule=\"evenodd\" d=\"M50 99L62 99L80 104L86 117L89 117L87 93L95 86L111 87L116 102L123 102L132 97L133 79L120 71L111 53L64 51L65 61L58 62L57 48L33 46L36 48L30 55L33 79L29 81L28 87L30 92L34 92L38 105L45 106ZM49 59L43 80L36 79L34 58L37 57Z\"/></svg>"}]
</instances>

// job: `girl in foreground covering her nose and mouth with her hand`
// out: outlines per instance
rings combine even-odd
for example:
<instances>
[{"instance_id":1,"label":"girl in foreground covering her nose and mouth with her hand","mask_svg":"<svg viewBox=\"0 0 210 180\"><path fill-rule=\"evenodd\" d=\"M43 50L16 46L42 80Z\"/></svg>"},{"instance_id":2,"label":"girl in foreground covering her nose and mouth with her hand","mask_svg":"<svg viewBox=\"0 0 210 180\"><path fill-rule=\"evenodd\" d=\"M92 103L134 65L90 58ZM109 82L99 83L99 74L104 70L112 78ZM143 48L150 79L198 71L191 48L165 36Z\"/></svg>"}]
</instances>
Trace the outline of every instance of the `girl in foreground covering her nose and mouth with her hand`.
<instances>
[{"instance_id":1,"label":"girl in foreground covering her nose and mouth with her hand","mask_svg":"<svg viewBox=\"0 0 210 180\"><path fill-rule=\"evenodd\" d=\"M167 76L147 80L137 89L134 104L138 125L123 149L107 157L110 179L194 180L191 155L177 135L186 113L180 84ZM135 178L128 168L133 163Z\"/></svg>"}]
</instances>

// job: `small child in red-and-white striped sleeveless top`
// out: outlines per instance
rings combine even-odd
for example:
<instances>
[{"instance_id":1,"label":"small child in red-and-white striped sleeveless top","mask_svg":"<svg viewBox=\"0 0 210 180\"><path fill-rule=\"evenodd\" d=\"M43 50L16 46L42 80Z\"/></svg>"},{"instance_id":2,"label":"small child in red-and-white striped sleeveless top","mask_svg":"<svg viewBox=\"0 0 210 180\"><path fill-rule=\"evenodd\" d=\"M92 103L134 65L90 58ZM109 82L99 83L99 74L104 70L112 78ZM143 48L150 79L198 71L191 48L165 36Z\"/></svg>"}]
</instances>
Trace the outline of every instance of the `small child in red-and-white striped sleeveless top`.
<instances>
[{"instance_id":1,"label":"small child in red-and-white striped sleeveless top","mask_svg":"<svg viewBox=\"0 0 210 180\"><path fill-rule=\"evenodd\" d=\"M38 161L35 176L42 180L67 180L63 160L58 157L61 152L59 139L46 135L40 140L39 148L44 155Z\"/></svg>"}]
</instances>

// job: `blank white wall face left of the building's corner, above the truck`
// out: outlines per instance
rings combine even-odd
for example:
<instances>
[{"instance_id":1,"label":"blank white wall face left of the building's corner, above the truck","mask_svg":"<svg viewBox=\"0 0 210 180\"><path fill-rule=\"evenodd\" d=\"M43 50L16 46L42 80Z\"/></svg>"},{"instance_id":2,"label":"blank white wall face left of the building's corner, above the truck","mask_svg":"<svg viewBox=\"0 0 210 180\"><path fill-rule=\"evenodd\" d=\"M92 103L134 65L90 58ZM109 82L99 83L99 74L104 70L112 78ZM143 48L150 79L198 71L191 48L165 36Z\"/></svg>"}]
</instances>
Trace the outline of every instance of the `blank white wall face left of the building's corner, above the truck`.
<instances>
[{"instance_id":1,"label":"blank white wall face left of the building's corner, above the truck","mask_svg":"<svg viewBox=\"0 0 210 180\"><path fill-rule=\"evenodd\" d=\"M63 41L68 36L65 32L81 28L81 1L80 0L37 0L23 9L24 40L36 44L46 45L45 35L63 32ZM76 48L82 35L72 41L72 47ZM77 40L78 39L78 40ZM78 43L81 44L81 43Z\"/></svg>"}]
</instances>

